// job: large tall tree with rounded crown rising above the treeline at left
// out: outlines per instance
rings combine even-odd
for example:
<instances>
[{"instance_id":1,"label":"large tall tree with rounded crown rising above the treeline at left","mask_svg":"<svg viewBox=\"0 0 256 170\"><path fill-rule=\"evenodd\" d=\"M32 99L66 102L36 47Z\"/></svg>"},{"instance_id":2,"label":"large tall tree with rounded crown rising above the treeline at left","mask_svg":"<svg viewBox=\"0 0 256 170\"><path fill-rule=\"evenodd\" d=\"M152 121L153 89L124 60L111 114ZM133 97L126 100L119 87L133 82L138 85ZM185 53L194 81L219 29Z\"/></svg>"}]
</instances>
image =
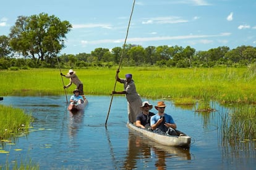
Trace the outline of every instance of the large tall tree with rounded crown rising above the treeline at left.
<instances>
[{"instance_id":1,"label":"large tall tree with rounded crown rising above the treeline at left","mask_svg":"<svg viewBox=\"0 0 256 170\"><path fill-rule=\"evenodd\" d=\"M11 28L10 45L14 51L34 62L55 57L64 46L72 25L54 15L41 13L30 17L19 16Z\"/></svg>"}]
</instances>

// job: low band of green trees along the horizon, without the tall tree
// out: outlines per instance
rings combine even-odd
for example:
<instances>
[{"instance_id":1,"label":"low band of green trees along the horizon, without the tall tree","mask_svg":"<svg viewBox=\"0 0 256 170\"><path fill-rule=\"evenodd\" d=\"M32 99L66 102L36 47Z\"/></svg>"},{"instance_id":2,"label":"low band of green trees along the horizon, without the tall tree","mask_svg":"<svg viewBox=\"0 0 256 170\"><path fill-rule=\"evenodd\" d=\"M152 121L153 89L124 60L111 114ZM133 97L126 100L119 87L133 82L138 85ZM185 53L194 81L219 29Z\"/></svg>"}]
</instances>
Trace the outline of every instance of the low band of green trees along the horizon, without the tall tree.
<instances>
[{"instance_id":1,"label":"low band of green trees along the horizon, without the tall tree","mask_svg":"<svg viewBox=\"0 0 256 170\"><path fill-rule=\"evenodd\" d=\"M158 67L247 67L256 62L256 48L239 46L230 50L223 46L208 51L195 51L174 46L142 46L128 44L122 54L122 47L114 47L111 51L97 48L90 54L63 54L46 60L25 59L24 57L0 57L0 69L12 70L28 68L85 68L108 67L122 62L126 66L158 66ZM121 57L122 56L122 57Z\"/></svg>"}]
</instances>

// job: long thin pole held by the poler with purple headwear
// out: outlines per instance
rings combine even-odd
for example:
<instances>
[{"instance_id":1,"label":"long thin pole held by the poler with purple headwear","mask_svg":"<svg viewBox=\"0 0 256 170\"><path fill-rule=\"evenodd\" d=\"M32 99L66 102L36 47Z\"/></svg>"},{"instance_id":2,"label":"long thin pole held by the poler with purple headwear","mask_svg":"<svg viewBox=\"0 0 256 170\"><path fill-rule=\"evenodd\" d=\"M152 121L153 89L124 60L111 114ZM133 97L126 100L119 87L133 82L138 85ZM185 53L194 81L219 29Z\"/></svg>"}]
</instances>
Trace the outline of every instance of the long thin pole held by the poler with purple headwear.
<instances>
[{"instance_id":1,"label":"long thin pole held by the poler with purple headwear","mask_svg":"<svg viewBox=\"0 0 256 170\"><path fill-rule=\"evenodd\" d=\"M135 4L135 0L134 0L134 4ZM128 36L128 33L129 33L130 20L131 20L131 18L132 18L132 13L134 12L134 4L132 5L132 12L130 13L129 24L128 24L127 31L126 31L126 39L124 40L124 46L123 46L123 48L122 48L122 54L121 54L121 58L120 58L118 70L119 70L120 67L121 67L122 56L123 56L124 51L125 51L125 49L126 49L126 40L127 40L127 36ZM117 74L118 74L118 73L116 73L116 78L117 78ZM116 89L116 82L117 82L117 81L115 81L115 83L114 83L114 90L113 90L113 91L115 91L115 89ZM109 116L111 104L112 104L112 101L113 101L113 96L114 96L114 95L112 94L112 95L111 95L111 101L110 101L109 108L108 108L108 115L107 115L107 118L106 118L105 126L106 126L106 124L107 124L107 122L108 122L108 116Z\"/></svg>"}]
</instances>

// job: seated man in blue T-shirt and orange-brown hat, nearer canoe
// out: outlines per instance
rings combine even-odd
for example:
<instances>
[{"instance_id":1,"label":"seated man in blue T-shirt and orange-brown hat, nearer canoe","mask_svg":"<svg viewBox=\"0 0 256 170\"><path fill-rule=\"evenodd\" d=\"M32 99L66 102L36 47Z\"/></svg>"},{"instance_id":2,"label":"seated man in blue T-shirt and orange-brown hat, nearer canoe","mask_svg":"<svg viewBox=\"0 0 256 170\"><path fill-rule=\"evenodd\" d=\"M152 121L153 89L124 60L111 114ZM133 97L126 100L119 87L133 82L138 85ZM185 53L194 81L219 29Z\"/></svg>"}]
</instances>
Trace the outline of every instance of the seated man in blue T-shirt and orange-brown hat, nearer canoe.
<instances>
[{"instance_id":1,"label":"seated man in blue T-shirt and orange-brown hat, nearer canoe","mask_svg":"<svg viewBox=\"0 0 256 170\"><path fill-rule=\"evenodd\" d=\"M184 136L184 134L179 134L177 131L175 131L177 126L174 123L173 117L164 113L165 107L166 105L164 102L158 102L155 106L156 110L158 110L158 114L152 116L150 119L151 129L161 134Z\"/></svg>"}]
</instances>

